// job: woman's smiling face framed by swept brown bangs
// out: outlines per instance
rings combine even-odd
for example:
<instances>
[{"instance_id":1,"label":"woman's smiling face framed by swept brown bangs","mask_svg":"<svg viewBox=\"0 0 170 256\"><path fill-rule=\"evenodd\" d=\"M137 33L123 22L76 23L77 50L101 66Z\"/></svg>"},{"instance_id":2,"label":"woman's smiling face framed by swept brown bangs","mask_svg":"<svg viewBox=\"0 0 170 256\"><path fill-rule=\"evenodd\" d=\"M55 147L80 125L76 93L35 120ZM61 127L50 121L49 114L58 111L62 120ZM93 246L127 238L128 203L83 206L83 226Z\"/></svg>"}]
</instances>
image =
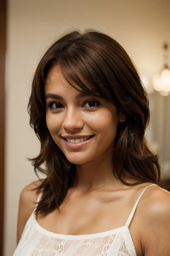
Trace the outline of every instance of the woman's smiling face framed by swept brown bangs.
<instances>
[{"instance_id":1,"label":"woman's smiling face framed by swept brown bangs","mask_svg":"<svg viewBox=\"0 0 170 256\"><path fill-rule=\"evenodd\" d=\"M44 91L47 128L69 162L83 164L112 155L118 123L124 119L114 104L81 95L64 80L58 66L48 73Z\"/></svg>"}]
</instances>

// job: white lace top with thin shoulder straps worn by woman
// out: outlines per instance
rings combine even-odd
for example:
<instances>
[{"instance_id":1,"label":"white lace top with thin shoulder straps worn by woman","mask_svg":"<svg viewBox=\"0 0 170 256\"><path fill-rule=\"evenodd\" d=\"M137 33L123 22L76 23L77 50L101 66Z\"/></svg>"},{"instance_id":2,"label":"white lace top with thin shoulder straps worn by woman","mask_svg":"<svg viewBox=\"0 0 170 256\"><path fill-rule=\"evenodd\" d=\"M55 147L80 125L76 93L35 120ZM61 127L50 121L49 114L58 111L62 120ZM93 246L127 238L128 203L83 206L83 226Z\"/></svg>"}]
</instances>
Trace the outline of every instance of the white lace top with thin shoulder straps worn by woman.
<instances>
[{"instance_id":1,"label":"white lace top with thin shoulder straps worn by woman","mask_svg":"<svg viewBox=\"0 0 170 256\"><path fill-rule=\"evenodd\" d=\"M63 235L42 228L35 216L35 210L28 219L13 256L136 256L128 226L138 197L125 226L97 234ZM41 198L38 196L37 203Z\"/></svg>"}]
</instances>

